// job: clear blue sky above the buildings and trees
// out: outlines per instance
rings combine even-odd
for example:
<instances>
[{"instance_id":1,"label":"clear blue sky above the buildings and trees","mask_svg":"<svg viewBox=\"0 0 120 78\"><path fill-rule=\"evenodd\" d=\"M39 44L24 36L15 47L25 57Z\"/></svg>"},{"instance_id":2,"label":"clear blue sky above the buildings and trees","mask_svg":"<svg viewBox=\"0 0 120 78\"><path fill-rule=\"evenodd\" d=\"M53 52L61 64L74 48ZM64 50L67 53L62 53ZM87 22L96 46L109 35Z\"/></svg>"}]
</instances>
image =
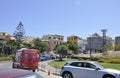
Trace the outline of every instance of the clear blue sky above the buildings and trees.
<instances>
[{"instance_id":1,"label":"clear blue sky above the buildings and trees","mask_svg":"<svg viewBox=\"0 0 120 78\"><path fill-rule=\"evenodd\" d=\"M120 36L120 0L0 0L0 32L22 22L27 36L59 34L86 39L93 33Z\"/></svg>"}]
</instances>

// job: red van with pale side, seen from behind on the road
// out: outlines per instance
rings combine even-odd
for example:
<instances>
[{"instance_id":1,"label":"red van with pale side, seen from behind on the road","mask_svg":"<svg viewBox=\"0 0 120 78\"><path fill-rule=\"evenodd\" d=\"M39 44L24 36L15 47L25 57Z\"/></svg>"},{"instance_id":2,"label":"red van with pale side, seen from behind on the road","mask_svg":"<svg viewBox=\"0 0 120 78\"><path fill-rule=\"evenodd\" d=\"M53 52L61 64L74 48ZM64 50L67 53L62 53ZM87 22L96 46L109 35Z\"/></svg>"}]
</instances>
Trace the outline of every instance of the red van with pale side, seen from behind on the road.
<instances>
[{"instance_id":1,"label":"red van with pale side, seen from behind on the road","mask_svg":"<svg viewBox=\"0 0 120 78\"><path fill-rule=\"evenodd\" d=\"M33 70L35 72L38 68L38 61L38 50L22 48L17 50L12 67Z\"/></svg>"}]
</instances>

